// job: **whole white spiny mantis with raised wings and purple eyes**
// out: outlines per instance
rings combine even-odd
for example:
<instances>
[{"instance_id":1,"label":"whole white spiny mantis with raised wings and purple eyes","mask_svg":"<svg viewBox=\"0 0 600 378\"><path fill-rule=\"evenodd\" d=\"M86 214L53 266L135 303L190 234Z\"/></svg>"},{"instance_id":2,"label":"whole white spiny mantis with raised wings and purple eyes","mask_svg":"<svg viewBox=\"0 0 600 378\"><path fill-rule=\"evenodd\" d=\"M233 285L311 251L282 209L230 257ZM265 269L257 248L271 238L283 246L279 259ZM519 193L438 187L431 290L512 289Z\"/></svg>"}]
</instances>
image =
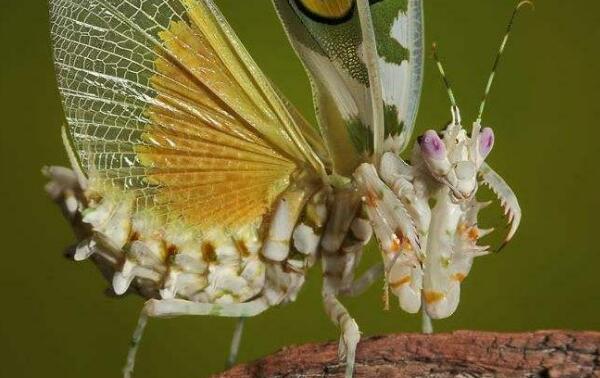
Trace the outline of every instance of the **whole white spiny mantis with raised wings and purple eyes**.
<instances>
[{"instance_id":1,"label":"whole white spiny mantis with raised wings and purple eyes","mask_svg":"<svg viewBox=\"0 0 600 378\"><path fill-rule=\"evenodd\" d=\"M243 319L294 301L317 262L350 377L360 336L340 296L383 276L386 298L422 310L430 331L488 253L477 245L489 232L477 226L478 176L508 214L506 241L519 225L514 193L484 162L494 73L470 133L447 85L452 122L419 137L410 163L400 157L423 77L421 1L273 3L309 74L318 127L211 0L50 0L72 167L47 168L47 191L76 232L73 258L93 261L116 294L148 299L124 377L148 317L240 318L232 363ZM372 234L383 261L356 278Z\"/></svg>"}]
</instances>

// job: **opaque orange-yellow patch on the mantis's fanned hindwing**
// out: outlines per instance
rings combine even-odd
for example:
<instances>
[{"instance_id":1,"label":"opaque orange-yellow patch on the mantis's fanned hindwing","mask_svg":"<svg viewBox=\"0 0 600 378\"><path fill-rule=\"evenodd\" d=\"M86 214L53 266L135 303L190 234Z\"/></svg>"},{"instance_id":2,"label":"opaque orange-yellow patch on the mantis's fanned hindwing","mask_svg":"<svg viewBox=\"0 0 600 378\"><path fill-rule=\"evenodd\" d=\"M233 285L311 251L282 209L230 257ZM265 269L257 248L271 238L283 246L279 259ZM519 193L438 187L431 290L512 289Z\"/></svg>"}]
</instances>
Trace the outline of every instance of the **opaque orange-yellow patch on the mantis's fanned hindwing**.
<instances>
[{"instance_id":1,"label":"opaque orange-yellow patch on the mantis's fanned hindwing","mask_svg":"<svg viewBox=\"0 0 600 378\"><path fill-rule=\"evenodd\" d=\"M204 122L162 105L149 107L146 115L152 123L142 135L146 143L136 152L150 169L149 184L158 188L154 205L205 228L234 227L256 220L289 185L289 177L297 169L295 162L258 137L250 124L222 104L216 93L228 101L235 99L233 108L243 108L245 116L252 117L256 110L250 105L252 97L237 85L198 31L177 22L160 36L187 69L213 88L168 60L158 58L155 62L158 72L151 84L158 103L175 108L194 104L210 117ZM181 91L173 79L194 90Z\"/></svg>"}]
</instances>

